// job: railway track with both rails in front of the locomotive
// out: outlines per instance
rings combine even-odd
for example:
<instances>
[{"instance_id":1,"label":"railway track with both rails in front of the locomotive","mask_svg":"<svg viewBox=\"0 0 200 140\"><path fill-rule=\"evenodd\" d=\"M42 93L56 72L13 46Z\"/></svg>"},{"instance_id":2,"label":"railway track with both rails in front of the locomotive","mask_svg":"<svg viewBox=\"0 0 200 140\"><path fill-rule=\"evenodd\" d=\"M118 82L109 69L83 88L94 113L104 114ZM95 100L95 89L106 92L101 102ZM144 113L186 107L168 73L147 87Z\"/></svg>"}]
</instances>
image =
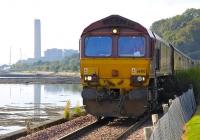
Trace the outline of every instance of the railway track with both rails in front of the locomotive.
<instances>
[{"instance_id":1,"label":"railway track with both rails in front of the locomotive","mask_svg":"<svg viewBox=\"0 0 200 140\"><path fill-rule=\"evenodd\" d=\"M103 128L103 127L108 127L109 126L109 122L112 123L112 127L116 127L116 129L118 129L119 127L123 127L123 131L120 132L120 133L117 133L115 136L112 136L111 134L107 134L108 137L110 137L110 139L114 139L114 140L121 140L121 139L124 139L126 138L128 135L130 135L132 132L136 131L144 122L146 122L147 120L149 119L149 116L146 116L144 118L140 118L139 121L130 121L127 120L126 123L129 123L127 126L125 124L123 124L123 121L121 122L121 126L118 126L119 122L114 122L113 120L111 119L102 119L102 120L99 120L99 121L96 121L92 124L89 124L85 127L82 127L70 134L67 134L61 138L59 138L59 140L72 140L72 139L90 139L90 138L85 138L87 137L87 135L93 135L93 131L97 131L97 133L101 133L100 129ZM110 126L109 126L110 127ZM118 128L117 128L118 127ZM99 130L97 130L99 129ZM110 130L112 131L112 130ZM109 133L109 132L103 132L103 133ZM114 132L110 132L110 133L114 133ZM102 135L101 135L102 136ZM101 139L99 137L96 137L95 134L93 136L94 138L97 138L97 139ZM102 137L105 137L105 136L102 136ZM109 139L108 137L105 137L106 139Z\"/></svg>"}]
</instances>

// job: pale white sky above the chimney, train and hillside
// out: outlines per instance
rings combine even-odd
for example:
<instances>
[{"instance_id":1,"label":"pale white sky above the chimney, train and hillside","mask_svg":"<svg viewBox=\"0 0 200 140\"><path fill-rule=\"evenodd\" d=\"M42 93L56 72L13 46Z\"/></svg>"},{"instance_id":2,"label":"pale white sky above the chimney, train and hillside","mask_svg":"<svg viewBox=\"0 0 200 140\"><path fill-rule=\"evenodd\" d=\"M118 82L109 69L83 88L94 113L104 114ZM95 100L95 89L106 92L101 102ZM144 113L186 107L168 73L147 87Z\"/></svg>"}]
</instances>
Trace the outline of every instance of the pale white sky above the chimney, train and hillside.
<instances>
[{"instance_id":1,"label":"pale white sky above the chimney, train and hillside","mask_svg":"<svg viewBox=\"0 0 200 140\"><path fill-rule=\"evenodd\" d=\"M200 8L200 0L0 0L0 64L9 64L10 50L12 64L33 58L34 19L41 21L43 56L51 48L78 50L84 28L112 14L150 28L188 8Z\"/></svg>"}]
</instances>

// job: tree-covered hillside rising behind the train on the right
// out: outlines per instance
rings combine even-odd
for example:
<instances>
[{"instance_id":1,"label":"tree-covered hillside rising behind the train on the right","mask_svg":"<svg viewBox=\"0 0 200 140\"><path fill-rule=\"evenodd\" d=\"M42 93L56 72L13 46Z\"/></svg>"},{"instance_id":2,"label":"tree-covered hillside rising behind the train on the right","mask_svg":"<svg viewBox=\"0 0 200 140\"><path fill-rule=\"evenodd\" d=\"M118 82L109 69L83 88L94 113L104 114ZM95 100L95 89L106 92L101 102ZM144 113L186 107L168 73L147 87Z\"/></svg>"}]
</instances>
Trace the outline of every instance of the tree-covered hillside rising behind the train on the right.
<instances>
[{"instance_id":1,"label":"tree-covered hillside rising behind the train on the right","mask_svg":"<svg viewBox=\"0 0 200 140\"><path fill-rule=\"evenodd\" d=\"M200 9L156 21L151 30L190 57L200 59Z\"/></svg>"}]
</instances>

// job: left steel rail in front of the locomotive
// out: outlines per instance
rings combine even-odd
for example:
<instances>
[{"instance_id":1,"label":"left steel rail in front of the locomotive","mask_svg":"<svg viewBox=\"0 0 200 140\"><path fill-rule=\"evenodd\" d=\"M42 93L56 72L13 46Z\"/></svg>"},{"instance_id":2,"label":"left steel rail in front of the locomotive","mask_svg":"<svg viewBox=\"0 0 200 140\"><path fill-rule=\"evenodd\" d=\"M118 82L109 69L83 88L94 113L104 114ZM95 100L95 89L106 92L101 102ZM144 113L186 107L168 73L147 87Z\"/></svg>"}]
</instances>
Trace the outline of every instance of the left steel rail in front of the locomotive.
<instances>
[{"instance_id":1,"label":"left steel rail in front of the locomotive","mask_svg":"<svg viewBox=\"0 0 200 140\"><path fill-rule=\"evenodd\" d=\"M105 118L105 119L102 119L102 120L98 120L98 121L95 121L87 126L83 126L81 128L79 128L78 130L75 130L61 138L59 138L58 140L72 140L72 139L76 139L78 137L80 137L81 135L83 135L84 133L87 133L93 129L96 129L98 127L101 127L105 124L107 124L108 122L110 121L110 119L108 118Z\"/></svg>"}]
</instances>

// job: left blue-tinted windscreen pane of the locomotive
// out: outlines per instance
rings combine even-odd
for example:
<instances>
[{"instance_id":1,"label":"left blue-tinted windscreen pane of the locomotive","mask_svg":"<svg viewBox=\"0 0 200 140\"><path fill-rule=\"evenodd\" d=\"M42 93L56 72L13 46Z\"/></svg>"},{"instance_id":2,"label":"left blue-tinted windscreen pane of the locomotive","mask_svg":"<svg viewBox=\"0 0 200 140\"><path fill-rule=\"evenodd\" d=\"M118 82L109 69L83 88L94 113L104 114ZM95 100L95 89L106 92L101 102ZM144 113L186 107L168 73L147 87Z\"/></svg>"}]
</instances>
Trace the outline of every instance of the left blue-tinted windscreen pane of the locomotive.
<instances>
[{"instance_id":1,"label":"left blue-tinted windscreen pane of the locomotive","mask_svg":"<svg viewBox=\"0 0 200 140\"><path fill-rule=\"evenodd\" d=\"M108 57L112 54L112 38L109 36L86 37L85 55Z\"/></svg>"}]
</instances>

